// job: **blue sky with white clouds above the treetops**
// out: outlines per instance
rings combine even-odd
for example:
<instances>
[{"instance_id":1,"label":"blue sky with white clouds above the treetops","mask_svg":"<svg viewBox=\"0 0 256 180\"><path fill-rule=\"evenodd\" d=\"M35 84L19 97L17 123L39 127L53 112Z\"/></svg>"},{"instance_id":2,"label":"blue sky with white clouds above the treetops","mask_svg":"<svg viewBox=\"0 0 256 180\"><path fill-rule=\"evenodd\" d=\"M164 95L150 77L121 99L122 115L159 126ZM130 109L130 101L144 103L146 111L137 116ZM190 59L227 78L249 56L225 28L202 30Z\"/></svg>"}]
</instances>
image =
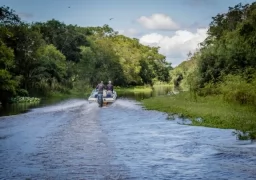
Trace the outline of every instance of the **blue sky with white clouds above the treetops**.
<instances>
[{"instance_id":1,"label":"blue sky with white clouds above the treetops","mask_svg":"<svg viewBox=\"0 0 256 180\"><path fill-rule=\"evenodd\" d=\"M211 17L254 0L0 0L27 22L57 19L79 26L110 25L141 43L159 46L173 66L206 38ZM113 18L112 20L109 20Z\"/></svg>"}]
</instances>

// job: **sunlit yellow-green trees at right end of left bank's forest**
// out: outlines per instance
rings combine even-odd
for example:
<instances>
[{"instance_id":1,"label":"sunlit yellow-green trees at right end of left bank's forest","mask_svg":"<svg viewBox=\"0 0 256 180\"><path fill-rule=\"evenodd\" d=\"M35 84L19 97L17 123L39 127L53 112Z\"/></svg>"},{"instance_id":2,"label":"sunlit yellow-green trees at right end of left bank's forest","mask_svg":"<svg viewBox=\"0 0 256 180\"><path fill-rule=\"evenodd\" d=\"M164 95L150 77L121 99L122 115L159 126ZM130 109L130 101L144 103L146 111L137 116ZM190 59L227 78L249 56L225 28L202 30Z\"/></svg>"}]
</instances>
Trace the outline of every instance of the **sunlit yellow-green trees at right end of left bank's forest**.
<instances>
[{"instance_id":1,"label":"sunlit yellow-green trees at right end of left bank's forest","mask_svg":"<svg viewBox=\"0 0 256 180\"><path fill-rule=\"evenodd\" d=\"M158 53L159 48L144 46L137 39L118 35L113 38L113 48L119 56L124 73L125 84L153 84L153 79L168 82L171 65L165 56Z\"/></svg>"}]
</instances>

